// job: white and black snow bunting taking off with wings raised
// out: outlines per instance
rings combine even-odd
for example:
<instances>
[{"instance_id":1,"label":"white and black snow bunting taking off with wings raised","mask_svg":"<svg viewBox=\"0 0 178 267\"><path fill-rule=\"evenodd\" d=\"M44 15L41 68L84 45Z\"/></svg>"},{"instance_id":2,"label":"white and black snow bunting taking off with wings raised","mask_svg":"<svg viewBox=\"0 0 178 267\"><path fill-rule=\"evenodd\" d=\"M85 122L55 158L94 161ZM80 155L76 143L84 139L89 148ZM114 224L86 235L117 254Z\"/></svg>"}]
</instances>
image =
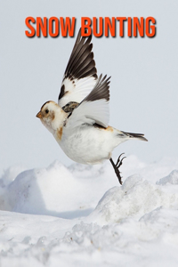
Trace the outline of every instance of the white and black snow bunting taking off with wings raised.
<instances>
[{"instance_id":1,"label":"white and black snow bunting taking off with wings raised","mask_svg":"<svg viewBox=\"0 0 178 267\"><path fill-rule=\"evenodd\" d=\"M61 149L72 160L82 164L99 164L109 159L122 184L119 166L112 150L132 138L147 141L144 134L132 134L109 126L109 79L98 77L93 60L92 36L82 37L81 29L69 58L61 84L58 104L47 101L37 113L53 134Z\"/></svg>"}]
</instances>

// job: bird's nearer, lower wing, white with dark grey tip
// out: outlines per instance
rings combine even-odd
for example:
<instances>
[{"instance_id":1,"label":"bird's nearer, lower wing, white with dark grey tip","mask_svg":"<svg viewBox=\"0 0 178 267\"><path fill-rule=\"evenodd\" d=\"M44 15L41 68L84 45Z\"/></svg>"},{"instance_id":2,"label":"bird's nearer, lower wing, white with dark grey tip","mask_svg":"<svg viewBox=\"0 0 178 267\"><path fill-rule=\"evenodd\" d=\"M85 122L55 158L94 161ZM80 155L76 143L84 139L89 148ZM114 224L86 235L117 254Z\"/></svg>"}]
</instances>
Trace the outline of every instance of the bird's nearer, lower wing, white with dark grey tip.
<instances>
[{"instance_id":1,"label":"bird's nearer, lower wing, white with dark grey tip","mask_svg":"<svg viewBox=\"0 0 178 267\"><path fill-rule=\"evenodd\" d=\"M110 77L109 77L110 78ZM84 124L109 124L109 78L98 78L93 91L73 110L66 121L66 127L74 128Z\"/></svg>"}]
</instances>

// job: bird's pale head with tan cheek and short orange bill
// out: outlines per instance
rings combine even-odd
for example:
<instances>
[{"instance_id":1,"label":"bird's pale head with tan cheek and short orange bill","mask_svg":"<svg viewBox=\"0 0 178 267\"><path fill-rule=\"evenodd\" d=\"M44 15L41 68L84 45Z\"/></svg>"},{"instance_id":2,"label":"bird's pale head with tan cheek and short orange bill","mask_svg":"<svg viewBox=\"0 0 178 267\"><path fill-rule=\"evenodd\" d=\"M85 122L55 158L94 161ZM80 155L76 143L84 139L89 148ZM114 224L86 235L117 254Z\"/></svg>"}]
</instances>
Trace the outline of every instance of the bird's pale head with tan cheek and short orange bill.
<instances>
[{"instance_id":1,"label":"bird's pale head with tan cheek and short orange bill","mask_svg":"<svg viewBox=\"0 0 178 267\"><path fill-rule=\"evenodd\" d=\"M68 115L57 103L47 101L36 114L36 117L40 118L43 125L54 134L63 125Z\"/></svg>"}]
</instances>

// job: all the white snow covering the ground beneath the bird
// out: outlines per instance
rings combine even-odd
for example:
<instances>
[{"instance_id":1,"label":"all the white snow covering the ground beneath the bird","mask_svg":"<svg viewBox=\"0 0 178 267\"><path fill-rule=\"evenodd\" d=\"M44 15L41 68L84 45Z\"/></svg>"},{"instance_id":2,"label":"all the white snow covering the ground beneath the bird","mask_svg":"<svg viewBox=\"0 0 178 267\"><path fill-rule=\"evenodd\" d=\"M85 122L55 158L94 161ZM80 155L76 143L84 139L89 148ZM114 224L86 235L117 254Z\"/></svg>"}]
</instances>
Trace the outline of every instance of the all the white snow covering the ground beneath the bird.
<instances>
[{"instance_id":1,"label":"all the white snow covering the ground beneath the bird","mask_svg":"<svg viewBox=\"0 0 178 267\"><path fill-rule=\"evenodd\" d=\"M117 158L115 158L116 160ZM0 179L0 266L177 266L178 159L55 161Z\"/></svg>"}]
</instances>

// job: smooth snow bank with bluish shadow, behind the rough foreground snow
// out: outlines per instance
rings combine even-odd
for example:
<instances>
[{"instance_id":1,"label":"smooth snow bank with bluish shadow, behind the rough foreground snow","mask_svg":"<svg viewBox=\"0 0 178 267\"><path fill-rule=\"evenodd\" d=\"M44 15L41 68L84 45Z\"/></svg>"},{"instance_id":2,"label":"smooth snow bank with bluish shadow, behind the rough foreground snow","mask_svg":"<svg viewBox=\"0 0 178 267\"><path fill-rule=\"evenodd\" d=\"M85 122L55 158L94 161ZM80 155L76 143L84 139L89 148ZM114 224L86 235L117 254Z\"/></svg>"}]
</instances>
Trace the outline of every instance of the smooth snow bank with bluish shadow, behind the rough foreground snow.
<instances>
[{"instance_id":1,"label":"smooth snow bank with bluish shadow, behind the rough foreground snow","mask_svg":"<svg viewBox=\"0 0 178 267\"><path fill-rule=\"evenodd\" d=\"M2 210L71 219L90 214L109 188L109 181L105 182L107 176L102 179L103 166L76 165L68 169L56 161L44 169L21 172L15 179L12 169L0 180L3 184L0 194ZM12 174L13 178L5 176L6 173ZM118 183L114 172L113 178L110 185Z\"/></svg>"}]
</instances>

